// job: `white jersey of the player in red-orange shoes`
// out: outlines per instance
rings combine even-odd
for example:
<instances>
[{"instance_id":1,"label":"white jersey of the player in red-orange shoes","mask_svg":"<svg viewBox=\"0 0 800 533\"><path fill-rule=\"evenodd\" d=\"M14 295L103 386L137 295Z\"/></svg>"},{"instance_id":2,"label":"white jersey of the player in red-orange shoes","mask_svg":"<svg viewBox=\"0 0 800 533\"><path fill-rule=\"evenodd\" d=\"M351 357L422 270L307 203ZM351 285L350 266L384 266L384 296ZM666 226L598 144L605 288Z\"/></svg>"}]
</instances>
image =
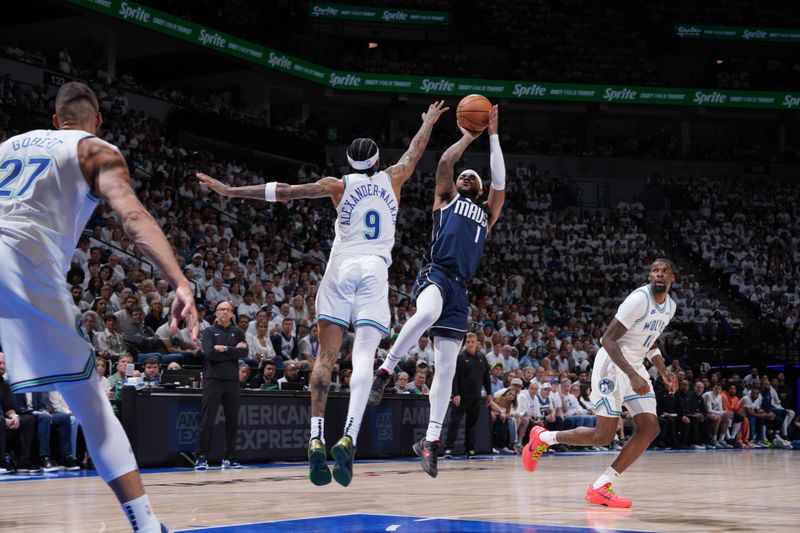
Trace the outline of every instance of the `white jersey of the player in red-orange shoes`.
<instances>
[{"instance_id":1,"label":"white jersey of the player in red-orange shoes","mask_svg":"<svg viewBox=\"0 0 800 533\"><path fill-rule=\"evenodd\" d=\"M656 302L650 285L639 287L625 298L616 318L628 331L617 341L622 355L631 365L639 366L650 347L675 316L675 301L667 294L664 305Z\"/></svg>"}]
</instances>

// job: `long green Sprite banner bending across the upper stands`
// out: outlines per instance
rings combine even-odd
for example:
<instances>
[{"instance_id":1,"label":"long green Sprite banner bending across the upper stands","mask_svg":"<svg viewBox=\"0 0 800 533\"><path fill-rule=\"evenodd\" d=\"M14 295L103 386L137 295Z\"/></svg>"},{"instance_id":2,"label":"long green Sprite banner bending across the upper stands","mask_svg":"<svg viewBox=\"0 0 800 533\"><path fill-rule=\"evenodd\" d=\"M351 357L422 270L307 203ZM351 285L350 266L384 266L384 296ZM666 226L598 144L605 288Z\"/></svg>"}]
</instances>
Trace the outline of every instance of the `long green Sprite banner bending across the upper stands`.
<instances>
[{"instance_id":1,"label":"long green Sprite banner bending across the upper stands","mask_svg":"<svg viewBox=\"0 0 800 533\"><path fill-rule=\"evenodd\" d=\"M164 35L182 39L209 50L312 81L331 89L431 94L436 96L463 96L479 93L495 100L505 98L509 100L524 99L607 104L756 109L800 108L800 91L785 93L672 87L581 85L339 71L212 28L188 22L135 2L122 0L66 1Z\"/></svg>"}]
</instances>

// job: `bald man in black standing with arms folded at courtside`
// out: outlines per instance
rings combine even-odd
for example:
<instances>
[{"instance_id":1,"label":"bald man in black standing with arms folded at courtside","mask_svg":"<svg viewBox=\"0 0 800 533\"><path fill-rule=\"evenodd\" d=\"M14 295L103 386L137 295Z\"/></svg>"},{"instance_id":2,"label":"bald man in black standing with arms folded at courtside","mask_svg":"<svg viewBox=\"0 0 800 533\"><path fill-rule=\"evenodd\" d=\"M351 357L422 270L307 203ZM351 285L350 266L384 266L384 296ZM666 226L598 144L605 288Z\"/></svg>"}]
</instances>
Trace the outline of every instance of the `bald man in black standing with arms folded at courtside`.
<instances>
[{"instance_id":1,"label":"bald man in black standing with arms folded at courtside","mask_svg":"<svg viewBox=\"0 0 800 533\"><path fill-rule=\"evenodd\" d=\"M208 468L206 454L211 445L211 428L217 409L225 411L225 457L222 468L241 468L235 459L236 429L239 418L239 359L248 355L244 333L232 323L233 304L217 304L217 320L202 332L203 337L203 402L200 407L200 429L197 435L196 470Z\"/></svg>"}]
</instances>

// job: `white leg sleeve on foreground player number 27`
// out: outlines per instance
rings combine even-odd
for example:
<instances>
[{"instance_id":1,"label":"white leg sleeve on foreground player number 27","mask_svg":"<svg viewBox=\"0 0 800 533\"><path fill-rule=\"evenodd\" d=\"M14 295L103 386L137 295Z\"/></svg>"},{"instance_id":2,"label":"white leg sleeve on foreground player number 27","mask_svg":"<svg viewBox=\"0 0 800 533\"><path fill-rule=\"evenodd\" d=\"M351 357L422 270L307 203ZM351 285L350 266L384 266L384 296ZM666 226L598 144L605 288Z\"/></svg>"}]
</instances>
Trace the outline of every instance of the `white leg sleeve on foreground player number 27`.
<instances>
[{"instance_id":1,"label":"white leg sleeve on foreground player number 27","mask_svg":"<svg viewBox=\"0 0 800 533\"><path fill-rule=\"evenodd\" d=\"M86 447L103 481L108 483L136 470L128 436L96 376L92 374L79 383L59 383L56 388L83 427Z\"/></svg>"}]
</instances>

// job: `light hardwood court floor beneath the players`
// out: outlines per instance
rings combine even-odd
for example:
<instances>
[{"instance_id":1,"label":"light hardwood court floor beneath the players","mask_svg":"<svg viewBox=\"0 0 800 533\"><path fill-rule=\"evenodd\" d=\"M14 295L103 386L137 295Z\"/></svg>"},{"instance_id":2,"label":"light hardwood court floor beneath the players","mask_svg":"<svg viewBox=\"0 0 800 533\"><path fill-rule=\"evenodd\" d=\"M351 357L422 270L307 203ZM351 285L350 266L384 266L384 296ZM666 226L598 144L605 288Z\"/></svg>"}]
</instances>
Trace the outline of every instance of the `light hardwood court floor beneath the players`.
<instances>
[{"instance_id":1,"label":"light hardwood court floor beneath the players","mask_svg":"<svg viewBox=\"0 0 800 533\"><path fill-rule=\"evenodd\" d=\"M586 487L613 456L548 455L534 474L517 457L440 460L437 479L415 460L361 462L347 488L314 487L297 464L172 470L144 481L159 518L176 530L364 513L602 531L800 531L798 451L651 452L617 483L632 509L585 504ZM0 531L129 531L98 477L42 477L0 482Z\"/></svg>"}]
</instances>

